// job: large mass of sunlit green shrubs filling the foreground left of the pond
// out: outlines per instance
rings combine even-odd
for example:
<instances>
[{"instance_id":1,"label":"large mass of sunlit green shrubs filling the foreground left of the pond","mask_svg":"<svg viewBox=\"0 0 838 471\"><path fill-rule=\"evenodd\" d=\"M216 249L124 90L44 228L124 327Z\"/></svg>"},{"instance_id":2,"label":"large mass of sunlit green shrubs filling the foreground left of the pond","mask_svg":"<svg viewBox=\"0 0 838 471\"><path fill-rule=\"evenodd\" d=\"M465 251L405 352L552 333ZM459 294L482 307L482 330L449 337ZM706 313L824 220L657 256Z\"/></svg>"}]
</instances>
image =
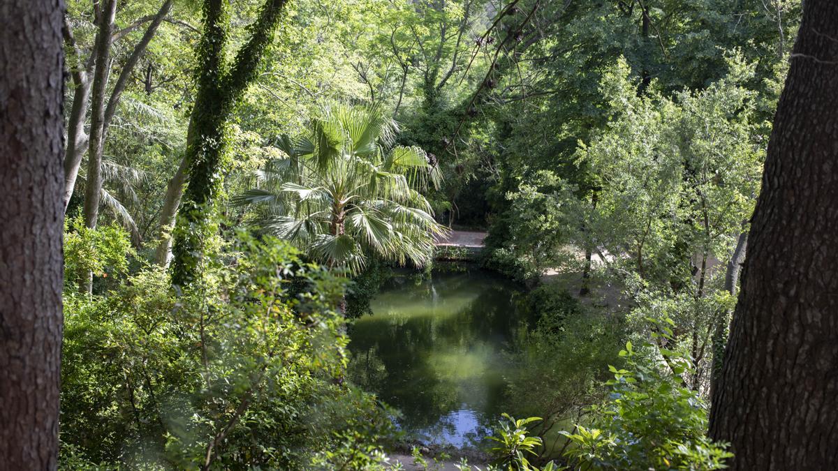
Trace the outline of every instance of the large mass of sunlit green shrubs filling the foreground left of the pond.
<instances>
[{"instance_id":1,"label":"large mass of sunlit green shrubs filling the foreground left of the pond","mask_svg":"<svg viewBox=\"0 0 838 471\"><path fill-rule=\"evenodd\" d=\"M106 297L65 298L65 466L306 468L380 454L386 411L337 384L343 280L271 238L242 233L227 256L200 290L175 294L148 268Z\"/></svg>"}]
</instances>

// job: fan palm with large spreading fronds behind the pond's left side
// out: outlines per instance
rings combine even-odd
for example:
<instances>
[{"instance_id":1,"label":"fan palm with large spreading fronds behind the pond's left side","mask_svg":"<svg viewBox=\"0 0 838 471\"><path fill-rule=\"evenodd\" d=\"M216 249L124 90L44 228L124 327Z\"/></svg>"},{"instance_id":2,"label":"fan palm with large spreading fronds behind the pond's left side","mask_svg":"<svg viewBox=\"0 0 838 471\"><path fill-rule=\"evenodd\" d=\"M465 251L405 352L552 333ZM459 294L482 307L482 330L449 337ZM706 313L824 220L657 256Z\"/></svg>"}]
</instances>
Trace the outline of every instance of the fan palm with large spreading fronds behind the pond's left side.
<instances>
[{"instance_id":1,"label":"fan palm with large spreading fronds behind the pond's left side","mask_svg":"<svg viewBox=\"0 0 838 471\"><path fill-rule=\"evenodd\" d=\"M351 275L367 256L422 267L446 229L421 192L442 173L421 148L393 147L396 132L377 106L328 106L303 136L277 140L285 155L235 202L255 206L261 229Z\"/></svg>"}]
</instances>

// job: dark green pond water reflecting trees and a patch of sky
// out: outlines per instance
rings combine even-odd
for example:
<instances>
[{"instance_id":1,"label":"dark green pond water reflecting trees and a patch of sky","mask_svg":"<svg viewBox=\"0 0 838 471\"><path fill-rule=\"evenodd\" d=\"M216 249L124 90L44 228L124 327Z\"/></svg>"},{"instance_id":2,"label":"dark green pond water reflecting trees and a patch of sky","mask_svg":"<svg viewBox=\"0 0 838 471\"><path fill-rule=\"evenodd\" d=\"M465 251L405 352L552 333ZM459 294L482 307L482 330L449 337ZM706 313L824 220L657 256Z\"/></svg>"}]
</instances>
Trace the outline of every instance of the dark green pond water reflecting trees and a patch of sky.
<instances>
[{"instance_id":1,"label":"dark green pond water reflecting trees and a patch of sky","mask_svg":"<svg viewBox=\"0 0 838 471\"><path fill-rule=\"evenodd\" d=\"M401 410L399 425L427 443L472 446L510 411L504 353L523 334L520 287L493 273L400 276L350 330L350 377Z\"/></svg>"}]
</instances>

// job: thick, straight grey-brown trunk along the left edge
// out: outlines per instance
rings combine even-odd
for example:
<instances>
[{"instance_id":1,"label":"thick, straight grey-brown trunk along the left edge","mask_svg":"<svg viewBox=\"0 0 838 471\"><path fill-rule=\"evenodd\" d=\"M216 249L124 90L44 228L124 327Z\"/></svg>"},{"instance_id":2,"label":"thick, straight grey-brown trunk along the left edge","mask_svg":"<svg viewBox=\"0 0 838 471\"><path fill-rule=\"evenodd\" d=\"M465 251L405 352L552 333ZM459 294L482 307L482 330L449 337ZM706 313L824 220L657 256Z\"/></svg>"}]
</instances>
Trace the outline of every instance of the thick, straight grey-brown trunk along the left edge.
<instances>
[{"instance_id":1,"label":"thick, straight grey-brown trunk along the left edge","mask_svg":"<svg viewBox=\"0 0 838 471\"><path fill-rule=\"evenodd\" d=\"M0 468L58 465L64 49L61 0L0 18Z\"/></svg>"}]
</instances>

